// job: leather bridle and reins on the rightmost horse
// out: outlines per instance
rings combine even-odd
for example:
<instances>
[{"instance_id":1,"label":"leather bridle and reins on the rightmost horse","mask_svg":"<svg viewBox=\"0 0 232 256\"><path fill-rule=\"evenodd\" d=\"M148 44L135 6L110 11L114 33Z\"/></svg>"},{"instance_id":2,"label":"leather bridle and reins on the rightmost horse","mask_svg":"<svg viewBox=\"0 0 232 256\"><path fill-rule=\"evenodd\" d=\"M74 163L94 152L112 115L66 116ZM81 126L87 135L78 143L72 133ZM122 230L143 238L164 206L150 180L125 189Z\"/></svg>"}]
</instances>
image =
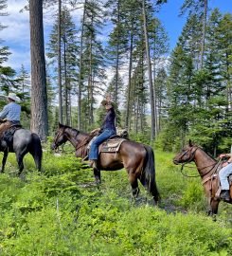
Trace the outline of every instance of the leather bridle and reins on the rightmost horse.
<instances>
[{"instance_id":1,"label":"leather bridle and reins on the rightmost horse","mask_svg":"<svg viewBox=\"0 0 232 256\"><path fill-rule=\"evenodd\" d=\"M209 171L206 172L206 174L198 174L198 175L187 175L187 174L184 174L184 166L187 165L189 162L191 162L194 158L195 158L195 154L196 154L196 151L198 149L200 149L200 147L196 147L195 150L193 152L191 152L191 150L194 148L194 146L190 147L189 149L187 149L187 151L185 151L181 156L180 156L180 159L183 158L184 155L187 155L187 153L189 153L189 158L187 159L187 162L184 162L182 163L182 166L181 166L181 174L183 174L184 176L186 177L204 177L206 174L209 174L213 169L214 167L217 165L217 164L220 164L220 161L219 160L218 162L216 163L213 163L213 164L210 164L208 166L205 166L203 167L202 169L199 169L199 171L203 171L205 168L208 168L208 167L212 167L209 169ZM217 170L217 169L216 169Z\"/></svg>"}]
</instances>

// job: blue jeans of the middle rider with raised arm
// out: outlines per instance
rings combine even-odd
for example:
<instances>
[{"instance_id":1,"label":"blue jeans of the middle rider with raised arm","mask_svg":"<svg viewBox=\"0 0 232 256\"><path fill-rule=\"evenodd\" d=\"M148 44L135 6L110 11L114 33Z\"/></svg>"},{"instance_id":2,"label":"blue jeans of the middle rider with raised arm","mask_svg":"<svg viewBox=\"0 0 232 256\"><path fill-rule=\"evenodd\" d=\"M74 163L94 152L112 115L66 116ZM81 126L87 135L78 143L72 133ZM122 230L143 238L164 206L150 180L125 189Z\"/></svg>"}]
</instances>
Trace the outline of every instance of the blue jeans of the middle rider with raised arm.
<instances>
[{"instance_id":1,"label":"blue jeans of the middle rider with raised arm","mask_svg":"<svg viewBox=\"0 0 232 256\"><path fill-rule=\"evenodd\" d=\"M98 159L98 146L107 138L116 135L116 131L114 130L104 130L96 139L93 141L90 151L89 151L89 159L97 160Z\"/></svg>"}]
</instances>

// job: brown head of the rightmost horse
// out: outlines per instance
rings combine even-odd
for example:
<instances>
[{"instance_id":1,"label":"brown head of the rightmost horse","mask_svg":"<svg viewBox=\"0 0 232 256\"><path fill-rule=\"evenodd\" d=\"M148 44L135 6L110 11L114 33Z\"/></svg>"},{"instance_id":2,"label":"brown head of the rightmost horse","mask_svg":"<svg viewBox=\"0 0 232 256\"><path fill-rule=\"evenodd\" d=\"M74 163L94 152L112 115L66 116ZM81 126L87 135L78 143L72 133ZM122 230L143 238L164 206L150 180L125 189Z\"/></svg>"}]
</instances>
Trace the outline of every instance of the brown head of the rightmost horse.
<instances>
[{"instance_id":1,"label":"brown head of the rightmost horse","mask_svg":"<svg viewBox=\"0 0 232 256\"><path fill-rule=\"evenodd\" d=\"M189 163L194 160L197 146L194 146L189 139L188 144L181 150L180 153L173 158L174 164Z\"/></svg>"}]
</instances>

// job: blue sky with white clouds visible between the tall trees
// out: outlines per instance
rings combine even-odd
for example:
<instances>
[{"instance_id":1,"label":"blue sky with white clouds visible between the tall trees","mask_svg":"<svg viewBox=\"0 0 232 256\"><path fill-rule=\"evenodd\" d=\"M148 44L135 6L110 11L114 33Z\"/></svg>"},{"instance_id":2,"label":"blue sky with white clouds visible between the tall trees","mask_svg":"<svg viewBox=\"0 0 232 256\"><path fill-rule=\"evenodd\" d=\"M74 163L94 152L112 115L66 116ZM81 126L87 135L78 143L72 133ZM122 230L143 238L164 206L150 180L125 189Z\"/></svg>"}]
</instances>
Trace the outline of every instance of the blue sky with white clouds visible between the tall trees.
<instances>
[{"instance_id":1,"label":"blue sky with white clouds visible between the tall trees","mask_svg":"<svg viewBox=\"0 0 232 256\"><path fill-rule=\"evenodd\" d=\"M183 2L184 0L168 0L157 14L169 34L170 49L175 46L186 22L186 16L178 16ZM16 71L21 64L24 64L27 70L30 68L28 11L19 12L26 5L27 0L9 0L9 16L1 17L1 23L8 27L0 31L0 38L5 40L4 46L9 46L12 54L9 56L8 64ZM209 0L209 8L219 8L223 13L232 12L232 0ZM54 22L54 11L54 9L45 11L45 42ZM80 21L81 11L79 9L73 13L77 23Z\"/></svg>"}]
</instances>

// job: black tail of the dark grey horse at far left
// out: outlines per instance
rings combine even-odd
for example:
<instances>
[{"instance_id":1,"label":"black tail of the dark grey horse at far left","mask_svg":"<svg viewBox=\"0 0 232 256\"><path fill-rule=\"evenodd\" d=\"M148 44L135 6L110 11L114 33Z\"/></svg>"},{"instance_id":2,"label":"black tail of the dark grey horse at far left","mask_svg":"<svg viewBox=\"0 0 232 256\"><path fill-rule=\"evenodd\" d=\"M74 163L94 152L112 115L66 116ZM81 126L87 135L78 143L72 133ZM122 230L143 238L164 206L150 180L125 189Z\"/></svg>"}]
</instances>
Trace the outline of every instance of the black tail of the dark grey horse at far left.
<instances>
[{"instance_id":1,"label":"black tail of the dark grey horse at far left","mask_svg":"<svg viewBox=\"0 0 232 256\"><path fill-rule=\"evenodd\" d=\"M41 172L42 167L42 145L40 137L37 134L31 134L31 146L30 146L30 154L33 156L36 168Z\"/></svg>"}]
</instances>

